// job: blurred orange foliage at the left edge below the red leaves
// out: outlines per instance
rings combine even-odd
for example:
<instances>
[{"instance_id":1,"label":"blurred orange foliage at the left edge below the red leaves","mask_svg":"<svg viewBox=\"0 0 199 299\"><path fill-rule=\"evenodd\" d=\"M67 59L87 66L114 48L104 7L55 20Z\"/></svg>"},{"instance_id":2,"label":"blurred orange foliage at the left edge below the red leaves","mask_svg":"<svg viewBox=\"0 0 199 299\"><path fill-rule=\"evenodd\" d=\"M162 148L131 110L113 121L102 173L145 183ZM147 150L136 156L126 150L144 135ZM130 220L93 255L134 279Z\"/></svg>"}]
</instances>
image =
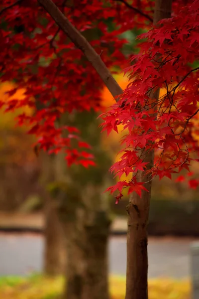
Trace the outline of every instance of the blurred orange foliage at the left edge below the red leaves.
<instances>
[{"instance_id":1,"label":"blurred orange foliage at the left edge below the red leaves","mask_svg":"<svg viewBox=\"0 0 199 299\"><path fill-rule=\"evenodd\" d=\"M15 87L14 83L1 83L0 101L23 100L25 89L17 89L12 96L6 94ZM26 135L25 126L16 127L15 118L21 113L31 115L32 111L27 106L6 113L3 108L0 110L0 163L17 163L21 165L35 159L32 149L33 136Z\"/></svg>"}]
</instances>

